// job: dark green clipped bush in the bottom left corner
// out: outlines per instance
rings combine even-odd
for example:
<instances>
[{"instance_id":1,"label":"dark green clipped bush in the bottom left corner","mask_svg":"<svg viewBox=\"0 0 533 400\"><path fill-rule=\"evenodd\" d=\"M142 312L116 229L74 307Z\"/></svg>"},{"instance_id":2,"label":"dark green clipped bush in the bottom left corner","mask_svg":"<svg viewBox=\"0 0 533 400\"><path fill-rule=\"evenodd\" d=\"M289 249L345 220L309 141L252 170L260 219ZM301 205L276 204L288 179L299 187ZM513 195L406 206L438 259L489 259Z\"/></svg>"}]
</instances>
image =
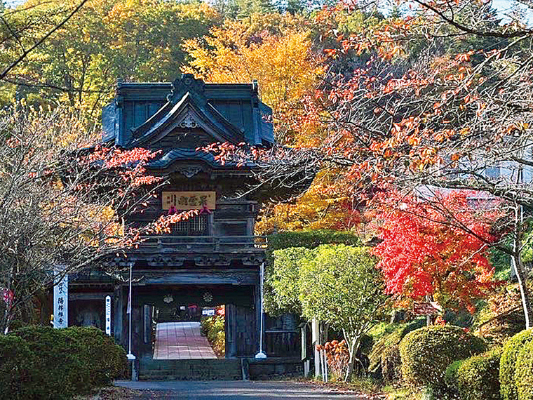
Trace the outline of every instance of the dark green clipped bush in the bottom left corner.
<instances>
[{"instance_id":1,"label":"dark green clipped bush in the bottom left corner","mask_svg":"<svg viewBox=\"0 0 533 400\"><path fill-rule=\"evenodd\" d=\"M0 392L3 400L32 398L35 354L16 336L0 335Z\"/></svg>"}]
</instances>

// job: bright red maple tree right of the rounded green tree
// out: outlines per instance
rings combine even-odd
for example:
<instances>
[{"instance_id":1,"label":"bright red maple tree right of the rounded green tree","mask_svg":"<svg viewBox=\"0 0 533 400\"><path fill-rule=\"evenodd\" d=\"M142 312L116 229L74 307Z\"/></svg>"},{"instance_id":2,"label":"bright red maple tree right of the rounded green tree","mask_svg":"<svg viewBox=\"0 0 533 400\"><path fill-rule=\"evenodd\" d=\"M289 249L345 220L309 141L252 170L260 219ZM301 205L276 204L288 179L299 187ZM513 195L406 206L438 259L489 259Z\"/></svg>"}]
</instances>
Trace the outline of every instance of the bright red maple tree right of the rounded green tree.
<instances>
[{"instance_id":1,"label":"bright red maple tree right of the rounded green tree","mask_svg":"<svg viewBox=\"0 0 533 400\"><path fill-rule=\"evenodd\" d=\"M498 284L487 258L498 239L491 232L490 221L499 216L492 204L472 205L472 192L436 194L432 201L388 193L387 201L377 215L382 242L374 249L386 292L404 305L430 296L442 307L474 312L474 300Z\"/></svg>"}]
</instances>

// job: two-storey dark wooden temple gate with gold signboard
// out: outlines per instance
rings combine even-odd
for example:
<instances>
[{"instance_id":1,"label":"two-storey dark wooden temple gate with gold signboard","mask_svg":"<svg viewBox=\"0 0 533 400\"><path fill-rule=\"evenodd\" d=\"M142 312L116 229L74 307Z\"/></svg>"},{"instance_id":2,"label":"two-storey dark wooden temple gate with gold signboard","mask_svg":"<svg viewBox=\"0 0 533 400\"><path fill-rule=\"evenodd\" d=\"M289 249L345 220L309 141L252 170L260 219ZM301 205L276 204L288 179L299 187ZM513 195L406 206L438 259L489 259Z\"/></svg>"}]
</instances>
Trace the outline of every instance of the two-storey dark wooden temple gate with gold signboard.
<instances>
[{"instance_id":1,"label":"two-storey dark wooden temple gate with gold signboard","mask_svg":"<svg viewBox=\"0 0 533 400\"><path fill-rule=\"evenodd\" d=\"M189 74L171 84L119 82L116 99L102 113L102 140L125 149L159 151L147 168L168 181L147 210L130 215L126 223L142 226L168 213L171 206L178 212L201 213L175 224L171 234L146 237L126 255L72 276L70 321L102 324L95 301L111 295L112 332L128 349L131 268L133 354L151 356L151 310L174 302L226 305L227 358L257 353L262 318L259 269L267 244L254 236L254 222L258 205L270 193L248 191L257 184L253 166L222 165L198 150L214 142L274 145L272 126L265 118L271 109L257 93L255 83L204 84ZM106 273L109 270L114 273ZM267 355L299 356L297 326L280 321L267 323Z\"/></svg>"}]
</instances>

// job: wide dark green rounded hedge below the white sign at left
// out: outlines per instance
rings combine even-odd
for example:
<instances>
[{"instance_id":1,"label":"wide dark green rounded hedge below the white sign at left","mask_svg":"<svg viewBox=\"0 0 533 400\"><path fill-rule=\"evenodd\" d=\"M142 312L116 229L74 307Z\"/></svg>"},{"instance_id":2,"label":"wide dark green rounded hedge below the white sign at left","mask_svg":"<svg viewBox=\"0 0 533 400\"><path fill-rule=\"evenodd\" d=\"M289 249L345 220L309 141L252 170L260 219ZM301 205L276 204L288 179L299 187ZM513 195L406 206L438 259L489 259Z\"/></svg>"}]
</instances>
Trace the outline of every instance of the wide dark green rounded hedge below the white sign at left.
<instances>
[{"instance_id":1,"label":"wide dark green rounded hedge below the white sign at left","mask_svg":"<svg viewBox=\"0 0 533 400\"><path fill-rule=\"evenodd\" d=\"M126 373L126 352L97 328L25 326L7 338L22 343L22 350L5 362L31 367L29 375L21 375L26 399L72 399ZM4 357L4 365L1 361Z\"/></svg>"}]
</instances>

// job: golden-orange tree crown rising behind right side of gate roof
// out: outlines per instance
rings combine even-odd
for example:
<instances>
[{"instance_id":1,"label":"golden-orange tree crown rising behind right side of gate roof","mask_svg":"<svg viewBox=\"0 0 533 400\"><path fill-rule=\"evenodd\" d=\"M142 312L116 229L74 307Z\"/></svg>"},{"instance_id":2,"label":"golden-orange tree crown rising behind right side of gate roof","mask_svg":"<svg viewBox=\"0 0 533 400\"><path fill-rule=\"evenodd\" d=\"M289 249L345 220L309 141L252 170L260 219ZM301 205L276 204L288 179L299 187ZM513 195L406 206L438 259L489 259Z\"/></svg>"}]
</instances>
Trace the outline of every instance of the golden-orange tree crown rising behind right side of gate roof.
<instances>
[{"instance_id":1,"label":"golden-orange tree crown rising behind right side of gate roof","mask_svg":"<svg viewBox=\"0 0 533 400\"><path fill-rule=\"evenodd\" d=\"M283 25L277 20L276 29L268 29L264 16L252 15L247 22L226 21L202 39L185 41L184 50L191 60L183 71L211 82L257 79L262 102L274 109L279 133L290 130L288 126L302 114L302 98L312 93L323 73L321 58L311 47L311 31L297 21ZM290 133L278 139L302 144L286 135Z\"/></svg>"}]
</instances>

